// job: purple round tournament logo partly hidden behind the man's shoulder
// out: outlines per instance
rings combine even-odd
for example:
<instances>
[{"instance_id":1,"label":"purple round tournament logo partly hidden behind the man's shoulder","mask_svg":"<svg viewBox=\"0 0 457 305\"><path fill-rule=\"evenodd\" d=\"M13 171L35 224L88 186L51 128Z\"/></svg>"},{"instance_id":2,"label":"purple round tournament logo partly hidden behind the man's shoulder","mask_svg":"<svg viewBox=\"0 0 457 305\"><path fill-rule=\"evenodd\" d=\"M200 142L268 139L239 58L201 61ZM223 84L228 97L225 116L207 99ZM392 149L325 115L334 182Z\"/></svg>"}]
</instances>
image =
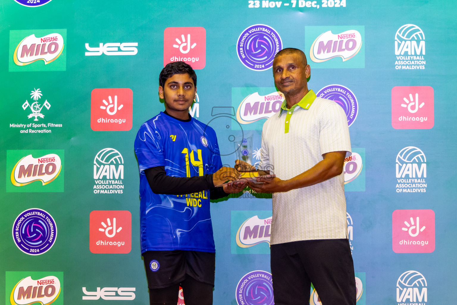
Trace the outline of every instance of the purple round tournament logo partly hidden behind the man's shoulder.
<instances>
[{"instance_id":1,"label":"purple round tournament logo partly hidden behind the man's shoulder","mask_svg":"<svg viewBox=\"0 0 457 305\"><path fill-rule=\"evenodd\" d=\"M332 100L340 105L346 113L348 126L351 126L356 120L359 104L356 96L349 88L342 85L329 85L319 90L316 96Z\"/></svg>"}]
</instances>

